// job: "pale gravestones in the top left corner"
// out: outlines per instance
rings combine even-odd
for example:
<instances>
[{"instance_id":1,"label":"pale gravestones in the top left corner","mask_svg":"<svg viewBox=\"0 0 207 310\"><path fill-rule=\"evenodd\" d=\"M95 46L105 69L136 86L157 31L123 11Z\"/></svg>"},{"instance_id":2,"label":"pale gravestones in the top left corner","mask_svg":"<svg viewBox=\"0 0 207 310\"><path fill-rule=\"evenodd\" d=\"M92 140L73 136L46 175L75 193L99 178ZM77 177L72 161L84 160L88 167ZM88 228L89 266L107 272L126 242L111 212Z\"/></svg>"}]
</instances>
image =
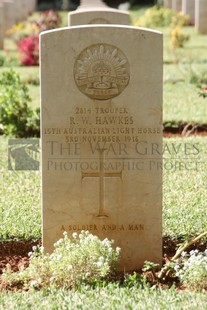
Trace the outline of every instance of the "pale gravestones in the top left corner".
<instances>
[{"instance_id":1,"label":"pale gravestones in the top left corner","mask_svg":"<svg viewBox=\"0 0 207 310\"><path fill-rule=\"evenodd\" d=\"M37 0L0 0L0 49L6 32L35 11Z\"/></svg>"}]
</instances>

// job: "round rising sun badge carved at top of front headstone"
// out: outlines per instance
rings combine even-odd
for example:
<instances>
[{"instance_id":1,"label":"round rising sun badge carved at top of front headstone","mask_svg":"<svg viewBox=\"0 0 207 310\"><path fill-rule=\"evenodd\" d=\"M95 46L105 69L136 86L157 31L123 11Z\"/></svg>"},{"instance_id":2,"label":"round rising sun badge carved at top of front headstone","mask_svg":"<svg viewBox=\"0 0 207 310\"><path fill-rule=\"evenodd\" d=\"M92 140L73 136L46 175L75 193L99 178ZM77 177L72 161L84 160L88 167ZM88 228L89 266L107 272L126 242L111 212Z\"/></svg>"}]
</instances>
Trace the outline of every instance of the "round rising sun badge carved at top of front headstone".
<instances>
[{"instance_id":1,"label":"round rising sun badge carved at top of front headstone","mask_svg":"<svg viewBox=\"0 0 207 310\"><path fill-rule=\"evenodd\" d=\"M92 45L84 49L74 65L74 79L86 96L107 100L118 96L129 83L129 62L117 47Z\"/></svg>"}]
</instances>

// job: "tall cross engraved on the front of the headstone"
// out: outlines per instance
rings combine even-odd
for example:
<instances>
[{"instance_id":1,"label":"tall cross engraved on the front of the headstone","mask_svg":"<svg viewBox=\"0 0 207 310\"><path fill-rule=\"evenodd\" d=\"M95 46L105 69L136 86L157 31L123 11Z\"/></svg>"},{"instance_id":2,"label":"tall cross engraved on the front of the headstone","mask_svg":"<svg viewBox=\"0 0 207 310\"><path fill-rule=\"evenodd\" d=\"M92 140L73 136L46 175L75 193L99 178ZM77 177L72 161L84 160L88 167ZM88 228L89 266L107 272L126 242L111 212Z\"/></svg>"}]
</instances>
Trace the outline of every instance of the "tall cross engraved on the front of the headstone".
<instances>
[{"instance_id":1,"label":"tall cross engraved on the front of the headstone","mask_svg":"<svg viewBox=\"0 0 207 310\"><path fill-rule=\"evenodd\" d=\"M99 212L97 217L108 217L104 210L104 178L120 178L122 180L122 171L105 172L104 171L104 151L99 149L99 171L98 172L82 172L82 180L84 178L99 178Z\"/></svg>"}]
</instances>

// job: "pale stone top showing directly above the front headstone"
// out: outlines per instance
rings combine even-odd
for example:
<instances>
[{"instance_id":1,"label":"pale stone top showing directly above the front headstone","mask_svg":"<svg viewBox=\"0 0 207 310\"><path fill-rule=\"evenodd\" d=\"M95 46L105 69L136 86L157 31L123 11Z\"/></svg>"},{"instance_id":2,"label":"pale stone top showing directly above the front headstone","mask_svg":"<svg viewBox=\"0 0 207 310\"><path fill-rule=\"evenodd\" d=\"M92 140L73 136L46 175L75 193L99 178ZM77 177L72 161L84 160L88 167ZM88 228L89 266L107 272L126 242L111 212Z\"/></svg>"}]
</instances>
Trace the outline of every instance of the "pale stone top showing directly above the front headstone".
<instances>
[{"instance_id":1,"label":"pale stone top showing directly above the front headstone","mask_svg":"<svg viewBox=\"0 0 207 310\"><path fill-rule=\"evenodd\" d=\"M101 0L82 0L77 10L68 14L68 25L88 24L129 25L130 16L126 11L108 7Z\"/></svg>"}]
</instances>

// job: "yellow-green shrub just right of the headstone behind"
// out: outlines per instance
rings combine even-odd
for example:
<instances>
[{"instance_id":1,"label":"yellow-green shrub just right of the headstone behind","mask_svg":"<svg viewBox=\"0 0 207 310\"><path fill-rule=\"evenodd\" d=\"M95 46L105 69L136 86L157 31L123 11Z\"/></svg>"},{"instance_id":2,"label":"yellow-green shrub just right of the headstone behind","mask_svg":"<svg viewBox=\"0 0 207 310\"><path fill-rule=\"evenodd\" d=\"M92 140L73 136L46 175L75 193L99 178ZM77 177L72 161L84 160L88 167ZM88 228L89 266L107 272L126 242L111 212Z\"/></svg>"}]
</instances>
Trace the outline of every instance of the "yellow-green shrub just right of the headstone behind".
<instances>
[{"instance_id":1,"label":"yellow-green shrub just right of the headstone behind","mask_svg":"<svg viewBox=\"0 0 207 310\"><path fill-rule=\"evenodd\" d=\"M171 24L186 25L189 17L177 13L162 6L153 6L145 11L145 14L135 21L135 26L140 27L166 27Z\"/></svg>"}]
</instances>

